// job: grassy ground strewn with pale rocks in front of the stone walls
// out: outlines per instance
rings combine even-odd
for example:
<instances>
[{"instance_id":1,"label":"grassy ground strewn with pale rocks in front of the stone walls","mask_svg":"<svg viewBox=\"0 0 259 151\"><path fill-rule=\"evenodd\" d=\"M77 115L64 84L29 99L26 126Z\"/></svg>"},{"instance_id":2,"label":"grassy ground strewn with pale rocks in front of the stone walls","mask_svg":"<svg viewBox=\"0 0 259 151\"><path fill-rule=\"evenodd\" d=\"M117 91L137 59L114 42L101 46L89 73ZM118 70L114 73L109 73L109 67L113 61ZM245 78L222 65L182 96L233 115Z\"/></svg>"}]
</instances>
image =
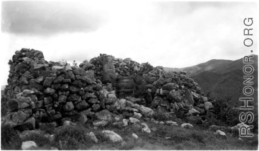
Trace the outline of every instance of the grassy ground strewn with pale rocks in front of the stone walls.
<instances>
[{"instance_id":1,"label":"grassy ground strewn with pale rocks in front of the stone walls","mask_svg":"<svg viewBox=\"0 0 259 151\"><path fill-rule=\"evenodd\" d=\"M56 129L53 131L56 135L53 142L45 139L44 134L24 138L22 141L35 141L39 146L33 148L36 150L48 150L50 146L61 150L257 150L258 148L257 136L243 137L243 142L241 142L238 140L238 132L232 132L229 129L224 131L227 138L223 138L213 135L215 130L209 130L208 127L205 128L202 125L193 124L193 128L186 129L180 126L148 123L143 120L141 122L149 126L150 134L142 132L141 129L132 129L131 126L122 127L112 123L98 129L94 129L91 124L86 124ZM102 130L114 131L123 138L124 142L110 142L102 136ZM94 143L85 135L91 131L98 138L98 143ZM138 135L139 138L136 140L131 138L132 133ZM166 137L171 138L165 139ZM3 145L1 142L1 148L5 149ZM12 144L9 145L12 146Z\"/></svg>"}]
</instances>

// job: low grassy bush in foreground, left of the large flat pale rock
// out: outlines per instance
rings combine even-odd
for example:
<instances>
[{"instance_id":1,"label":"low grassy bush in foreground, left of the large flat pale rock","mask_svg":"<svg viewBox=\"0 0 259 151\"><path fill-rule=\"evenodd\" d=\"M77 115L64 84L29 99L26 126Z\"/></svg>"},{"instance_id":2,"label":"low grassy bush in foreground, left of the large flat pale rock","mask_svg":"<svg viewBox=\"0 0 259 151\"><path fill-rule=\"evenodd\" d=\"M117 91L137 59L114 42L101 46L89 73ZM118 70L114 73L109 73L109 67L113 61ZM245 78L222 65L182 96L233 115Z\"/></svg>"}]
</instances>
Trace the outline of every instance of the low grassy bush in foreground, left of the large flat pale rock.
<instances>
[{"instance_id":1,"label":"low grassy bush in foreground, left of the large flat pale rock","mask_svg":"<svg viewBox=\"0 0 259 151\"><path fill-rule=\"evenodd\" d=\"M54 145L61 150L77 150L81 144L92 146L94 141L82 125L67 125L54 131Z\"/></svg>"}]
</instances>

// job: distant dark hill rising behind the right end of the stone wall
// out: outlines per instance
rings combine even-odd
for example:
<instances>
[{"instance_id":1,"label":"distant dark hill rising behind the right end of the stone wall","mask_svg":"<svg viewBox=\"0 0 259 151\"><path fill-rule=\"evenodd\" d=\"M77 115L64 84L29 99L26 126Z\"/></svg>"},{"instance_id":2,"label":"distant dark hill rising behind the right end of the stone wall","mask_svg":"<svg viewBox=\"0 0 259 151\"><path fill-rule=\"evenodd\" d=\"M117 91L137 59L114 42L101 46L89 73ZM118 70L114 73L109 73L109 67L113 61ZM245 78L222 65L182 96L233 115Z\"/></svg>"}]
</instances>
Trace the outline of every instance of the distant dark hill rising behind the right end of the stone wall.
<instances>
[{"instance_id":1,"label":"distant dark hill rising behind the right end of the stone wall","mask_svg":"<svg viewBox=\"0 0 259 151\"><path fill-rule=\"evenodd\" d=\"M253 61L253 79L250 80L253 84L253 94L249 97L253 97L254 99L258 96L258 55L249 55L249 61ZM164 67L166 71L173 70L183 70L187 72L187 75L191 76L195 82L199 84L199 87L205 93L211 91L211 94L217 97L222 97L226 95L232 95L232 100L239 101L240 97L248 97L243 93L243 88L246 86L244 81L247 78L243 78L244 76L250 76L243 72L243 67L248 63L243 63L243 58L238 60L217 60L212 59L205 63L200 63L196 66L185 67L185 68L168 68ZM248 71L248 69L247 69ZM248 89L247 89L248 90Z\"/></svg>"}]
</instances>

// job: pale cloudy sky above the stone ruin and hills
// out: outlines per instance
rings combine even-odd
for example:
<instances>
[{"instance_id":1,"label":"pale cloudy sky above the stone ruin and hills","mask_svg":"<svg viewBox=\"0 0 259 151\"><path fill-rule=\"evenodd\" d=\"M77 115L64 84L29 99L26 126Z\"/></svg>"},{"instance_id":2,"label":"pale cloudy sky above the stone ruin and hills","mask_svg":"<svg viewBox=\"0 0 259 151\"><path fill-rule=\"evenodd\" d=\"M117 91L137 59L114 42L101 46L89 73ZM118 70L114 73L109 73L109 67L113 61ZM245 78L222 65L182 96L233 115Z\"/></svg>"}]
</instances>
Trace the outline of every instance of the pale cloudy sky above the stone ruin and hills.
<instances>
[{"instance_id":1,"label":"pale cloudy sky above the stone ruin and hills","mask_svg":"<svg viewBox=\"0 0 259 151\"><path fill-rule=\"evenodd\" d=\"M240 59L257 54L257 14L256 2L2 1L1 85L21 48L78 64L100 53L177 68Z\"/></svg>"}]
</instances>

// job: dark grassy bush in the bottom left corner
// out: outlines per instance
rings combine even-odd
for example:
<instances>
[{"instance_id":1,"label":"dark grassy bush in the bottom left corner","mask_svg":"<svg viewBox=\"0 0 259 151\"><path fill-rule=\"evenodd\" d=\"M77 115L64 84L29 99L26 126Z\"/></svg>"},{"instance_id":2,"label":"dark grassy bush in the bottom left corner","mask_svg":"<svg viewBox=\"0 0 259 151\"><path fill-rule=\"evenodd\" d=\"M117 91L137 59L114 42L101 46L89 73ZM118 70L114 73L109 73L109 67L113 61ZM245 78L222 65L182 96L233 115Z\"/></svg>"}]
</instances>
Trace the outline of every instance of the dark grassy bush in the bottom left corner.
<instances>
[{"instance_id":1,"label":"dark grassy bush in the bottom left corner","mask_svg":"<svg viewBox=\"0 0 259 151\"><path fill-rule=\"evenodd\" d=\"M13 128L1 128L1 149L3 150L20 150L22 140L20 135Z\"/></svg>"}]
</instances>

